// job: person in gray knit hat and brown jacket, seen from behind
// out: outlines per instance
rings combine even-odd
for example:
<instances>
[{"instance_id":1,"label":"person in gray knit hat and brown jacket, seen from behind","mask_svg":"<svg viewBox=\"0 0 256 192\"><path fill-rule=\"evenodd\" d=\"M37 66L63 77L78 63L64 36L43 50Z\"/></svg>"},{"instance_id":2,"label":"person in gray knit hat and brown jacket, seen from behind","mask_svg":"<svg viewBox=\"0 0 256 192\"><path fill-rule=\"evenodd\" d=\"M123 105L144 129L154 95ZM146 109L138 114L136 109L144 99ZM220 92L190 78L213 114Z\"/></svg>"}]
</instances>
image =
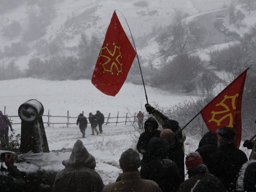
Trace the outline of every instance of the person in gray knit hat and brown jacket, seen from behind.
<instances>
[{"instance_id":1,"label":"person in gray knit hat and brown jacket, seen from behind","mask_svg":"<svg viewBox=\"0 0 256 192\"><path fill-rule=\"evenodd\" d=\"M139 154L133 149L124 151L119 159L123 171L114 183L106 185L102 192L161 192L155 181L140 178Z\"/></svg>"}]
</instances>

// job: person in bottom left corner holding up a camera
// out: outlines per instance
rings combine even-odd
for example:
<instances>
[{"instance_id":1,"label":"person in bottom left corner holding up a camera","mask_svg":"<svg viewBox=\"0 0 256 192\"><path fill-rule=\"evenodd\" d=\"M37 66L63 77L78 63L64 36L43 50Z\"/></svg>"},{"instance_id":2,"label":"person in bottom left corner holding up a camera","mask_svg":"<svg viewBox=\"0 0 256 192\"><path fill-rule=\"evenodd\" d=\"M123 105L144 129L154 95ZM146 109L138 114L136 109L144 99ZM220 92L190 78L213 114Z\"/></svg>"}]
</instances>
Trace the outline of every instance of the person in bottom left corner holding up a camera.
<instances>
[{"instance_id":1,"label":"person in bottom left corner holding up a camera","mask_svg":"<svg viewBox=\"0 0 256 192\"><path fill-rule=\"evenodd\" d=\"M1 192L27 192L28 188L24 176L14 165L14 154L10 157L5 155L5 168L0 171L0 191Z\"/></svg>"}]
</instances>

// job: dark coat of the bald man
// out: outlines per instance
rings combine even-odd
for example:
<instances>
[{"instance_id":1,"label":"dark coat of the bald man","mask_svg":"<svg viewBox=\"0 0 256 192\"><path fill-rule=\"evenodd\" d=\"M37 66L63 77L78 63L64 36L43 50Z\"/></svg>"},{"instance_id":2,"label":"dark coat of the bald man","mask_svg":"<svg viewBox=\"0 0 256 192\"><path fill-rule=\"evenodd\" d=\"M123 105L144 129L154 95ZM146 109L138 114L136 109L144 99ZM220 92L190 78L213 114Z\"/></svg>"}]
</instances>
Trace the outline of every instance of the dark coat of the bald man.
<instances>
[{"instance_id":1,"label":"dark coat of the bald man","mask_svg":"<svg viewBox=\"0 0 256 192\"><path fill-rule=\"evenodd\" d=\"M182 146L183 144L181 140L177 136L175 136L174 143L169 145L168 149L168 158L177 164L179 168L181 182L183 182L185 179L184 151Z\"/></svg>"}]
</instances>

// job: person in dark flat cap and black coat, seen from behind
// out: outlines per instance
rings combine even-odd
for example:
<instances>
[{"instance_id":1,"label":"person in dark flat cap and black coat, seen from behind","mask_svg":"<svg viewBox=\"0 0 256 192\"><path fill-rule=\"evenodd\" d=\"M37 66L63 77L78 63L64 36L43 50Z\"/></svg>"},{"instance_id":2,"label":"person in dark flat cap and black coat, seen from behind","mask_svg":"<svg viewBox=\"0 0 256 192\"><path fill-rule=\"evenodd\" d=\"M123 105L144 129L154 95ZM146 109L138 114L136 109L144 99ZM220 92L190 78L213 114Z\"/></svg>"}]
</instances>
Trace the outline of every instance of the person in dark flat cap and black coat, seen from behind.
<instances>
[{"instance_id":1,"label":"person in dark flat cap and black coat, seen from behind","mask_svg":"<svg viewBox=\"0 0 256 192\"><path fill-rule=\"evenodd\" d=\"M248 161L245 153L235 147L236 130L222 127L216 130L219 135L219 151L210 155L205 162L211 174L222 181L228 192L236 190L236 181L242 165Z\"/></svg>"}]
</instances>

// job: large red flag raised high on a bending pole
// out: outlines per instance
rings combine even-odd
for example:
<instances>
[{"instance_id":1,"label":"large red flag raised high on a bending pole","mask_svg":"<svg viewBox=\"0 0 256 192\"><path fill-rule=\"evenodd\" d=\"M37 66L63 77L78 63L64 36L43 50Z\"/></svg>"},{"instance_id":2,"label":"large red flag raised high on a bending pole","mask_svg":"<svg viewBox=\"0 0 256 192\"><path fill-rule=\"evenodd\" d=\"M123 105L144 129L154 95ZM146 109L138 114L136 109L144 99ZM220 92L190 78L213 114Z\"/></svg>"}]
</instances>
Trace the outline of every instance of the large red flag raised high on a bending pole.
<instances>
[{"instance_id":1,"label":"large red flag raised high on a bending pole","mask_svg":"<svg viewBox=\"0 0 256 192\"><path fill-rule=\"evenodd\" d=\"M124 84L135 56L114 11L93 72L94 86L106 95L115 96Z\"/></svg>"}]
</instances>

